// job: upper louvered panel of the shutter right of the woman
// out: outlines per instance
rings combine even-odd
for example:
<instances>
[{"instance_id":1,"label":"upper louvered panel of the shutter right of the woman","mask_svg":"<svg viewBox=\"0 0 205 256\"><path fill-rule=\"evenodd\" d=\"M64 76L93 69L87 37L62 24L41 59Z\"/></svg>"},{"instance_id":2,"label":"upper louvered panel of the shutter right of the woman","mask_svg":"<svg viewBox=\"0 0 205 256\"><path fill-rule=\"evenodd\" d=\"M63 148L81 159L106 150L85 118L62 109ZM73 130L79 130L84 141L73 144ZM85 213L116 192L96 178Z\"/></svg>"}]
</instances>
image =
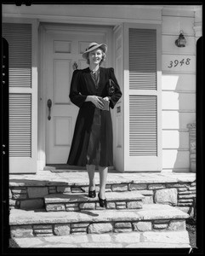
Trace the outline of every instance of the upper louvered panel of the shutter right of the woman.
<instances>
[{"instance_id":1,"label":"upper louvered panel of the shutter right of the woman","mask_svg":"<svg viewBox=\"0 0 205 256\"><path fill-rule=\"evenodd\" d=\"M129 28L129 89L156 90L157 38L154 29Z\"/></svg>"}]
</instances>

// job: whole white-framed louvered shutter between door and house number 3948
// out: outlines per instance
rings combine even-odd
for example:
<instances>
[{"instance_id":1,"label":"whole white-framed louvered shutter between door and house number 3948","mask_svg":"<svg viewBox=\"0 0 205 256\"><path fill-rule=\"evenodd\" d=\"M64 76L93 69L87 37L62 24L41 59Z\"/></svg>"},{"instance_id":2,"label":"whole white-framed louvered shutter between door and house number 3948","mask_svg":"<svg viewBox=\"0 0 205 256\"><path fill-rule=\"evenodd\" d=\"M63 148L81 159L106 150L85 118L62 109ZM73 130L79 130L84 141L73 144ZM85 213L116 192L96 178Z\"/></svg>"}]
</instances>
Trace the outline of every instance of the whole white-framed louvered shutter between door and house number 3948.
<instances>
[{"instance_id":1,"label":"whole white-framed louvered shutter between door and house number 3948","mask_svg":"<svg viewBox=\"0 0 205 256\"><path fill-rule=\"evenodd\" d=\"M160 27L126 25L125 169L161 171ZM126 57L127 56L127 57Z\"/></svg>"}]
</instances>

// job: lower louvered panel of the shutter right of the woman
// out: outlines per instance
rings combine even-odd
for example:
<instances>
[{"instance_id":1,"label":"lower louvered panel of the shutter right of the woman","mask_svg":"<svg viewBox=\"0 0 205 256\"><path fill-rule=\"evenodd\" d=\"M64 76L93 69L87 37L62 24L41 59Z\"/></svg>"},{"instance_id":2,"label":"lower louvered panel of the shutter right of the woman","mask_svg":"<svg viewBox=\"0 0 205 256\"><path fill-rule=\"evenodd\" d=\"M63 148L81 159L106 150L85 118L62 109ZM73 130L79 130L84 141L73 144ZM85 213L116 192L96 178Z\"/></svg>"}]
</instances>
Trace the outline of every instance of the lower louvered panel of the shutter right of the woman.
<instances>
[{"instance_id":1,"label":"lower louvered panel of the shutter right of the woman","mask_svg":"<svg viewBox=\"0 0 205 256\"><path fill-rule=\"evenodd\" d=\"M129 155L157 155L157 96L129 96Z\"/></svg>"}]
</instances>

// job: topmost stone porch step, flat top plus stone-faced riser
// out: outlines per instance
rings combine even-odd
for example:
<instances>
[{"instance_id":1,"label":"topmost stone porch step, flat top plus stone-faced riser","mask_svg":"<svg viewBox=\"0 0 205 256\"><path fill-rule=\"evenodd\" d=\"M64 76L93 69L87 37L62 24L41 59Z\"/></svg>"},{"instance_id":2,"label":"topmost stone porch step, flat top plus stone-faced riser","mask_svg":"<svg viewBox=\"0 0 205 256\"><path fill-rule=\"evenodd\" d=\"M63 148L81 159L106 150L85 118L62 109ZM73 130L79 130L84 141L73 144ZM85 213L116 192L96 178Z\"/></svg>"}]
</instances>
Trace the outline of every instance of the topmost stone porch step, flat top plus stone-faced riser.
<instances>
[{"instance_id":1,"label":"topmost stone porch step, flat top plus stone-faced riser","mask_svg":"<svg viewBox=\"0 0 205 256\"><path fill-rule=\"evenodd\" d=\"M144 203L161 203L180 207L194 213L196 201L196 173L123 172L108 173L106 192L137 190L145 195ZM99 173L95 175L99 191ZM88 193L87 172L49 172L9 175L9 207L25 210L44 207L44 196L60 193Z\"/></svg>"}]
</instances>

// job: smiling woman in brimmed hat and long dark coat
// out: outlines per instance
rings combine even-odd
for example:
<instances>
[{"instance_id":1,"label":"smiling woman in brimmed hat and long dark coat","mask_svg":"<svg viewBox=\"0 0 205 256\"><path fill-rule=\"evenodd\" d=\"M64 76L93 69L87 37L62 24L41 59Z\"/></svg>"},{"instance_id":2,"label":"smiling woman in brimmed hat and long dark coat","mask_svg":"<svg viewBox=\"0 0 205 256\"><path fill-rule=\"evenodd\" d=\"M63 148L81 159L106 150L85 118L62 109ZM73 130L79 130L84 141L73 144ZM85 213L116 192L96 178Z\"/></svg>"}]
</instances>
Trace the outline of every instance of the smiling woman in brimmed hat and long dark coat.
<instances>
[{"instance_id":1,"label":"smiling woman in brimmed hat and long dark coat","mask_svg":"<svg viewBox=\"0 0 205 256\"><path fill-rule=\"evenodd\" d=\"M71 79L70 98L79 112L67 163L86 166L89 178L88 196L95 197L94 171L99 166L100 207L106 207L105 184L108 166L113 166L112 123L110 108L122 96L113 68L100 67L105 61L106 44L91 43L83 53L88 68L75 70ZM115 86L109 95L109 79ZM111 90L110 90L111 92ZM109 103L108 111L104 101Z\"/></svg>"}]
</instances>

